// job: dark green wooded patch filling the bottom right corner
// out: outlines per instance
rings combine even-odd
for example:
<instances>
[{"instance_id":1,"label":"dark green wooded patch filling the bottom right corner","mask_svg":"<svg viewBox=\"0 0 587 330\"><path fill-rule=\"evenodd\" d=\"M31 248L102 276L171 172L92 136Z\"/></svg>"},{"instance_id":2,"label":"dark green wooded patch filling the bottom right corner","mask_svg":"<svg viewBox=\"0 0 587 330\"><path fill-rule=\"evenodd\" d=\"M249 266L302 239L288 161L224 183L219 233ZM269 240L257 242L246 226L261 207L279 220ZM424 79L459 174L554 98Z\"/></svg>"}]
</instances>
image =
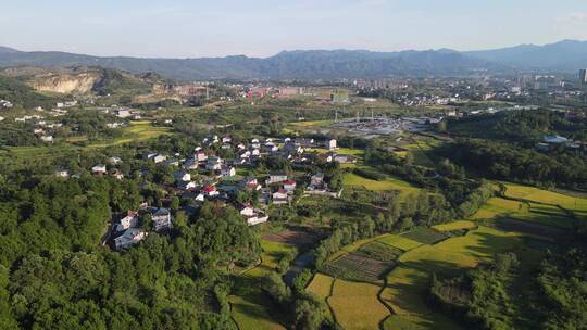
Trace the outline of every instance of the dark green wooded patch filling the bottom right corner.
<instances>
[{"instance_id":1,"label":"dark green wooded patch filling the bottom right corner","mask_svg":"<svg viewBox=\"0 0 587 330\"><path fill-rule=\"evenodd\" d=\"M585 254L549 254L530 268L514 253L430 283L430 304L480 329L585 329ZM524 317L532 315L532 318Z\"/></svg>"}]
</instances>

